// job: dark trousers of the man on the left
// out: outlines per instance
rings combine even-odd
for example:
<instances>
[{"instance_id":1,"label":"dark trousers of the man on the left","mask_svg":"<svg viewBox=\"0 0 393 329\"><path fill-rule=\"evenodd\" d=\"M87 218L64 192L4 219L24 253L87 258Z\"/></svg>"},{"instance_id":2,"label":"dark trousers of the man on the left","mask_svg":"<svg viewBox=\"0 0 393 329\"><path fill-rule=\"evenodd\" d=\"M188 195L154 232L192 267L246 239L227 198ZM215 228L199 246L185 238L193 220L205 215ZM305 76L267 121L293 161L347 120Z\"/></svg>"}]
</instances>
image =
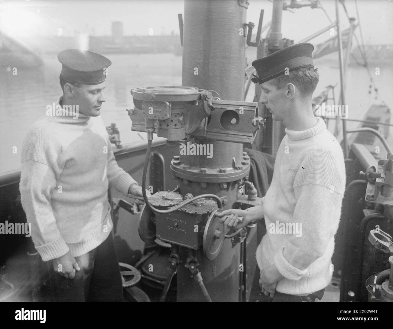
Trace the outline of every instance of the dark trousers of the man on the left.
<instances>
[{"instance_id":1,"label":"dark trousers of the man on the left","mask_svg":"<svg viewBox=\"0 0 393 329\"><path fill-rule=\"evenodd\" d=\"M97 248L75 257L81 270L66 279L50 268L54 301L123 301L123 285L112 233Z\"/></svg>"}]
</instances>

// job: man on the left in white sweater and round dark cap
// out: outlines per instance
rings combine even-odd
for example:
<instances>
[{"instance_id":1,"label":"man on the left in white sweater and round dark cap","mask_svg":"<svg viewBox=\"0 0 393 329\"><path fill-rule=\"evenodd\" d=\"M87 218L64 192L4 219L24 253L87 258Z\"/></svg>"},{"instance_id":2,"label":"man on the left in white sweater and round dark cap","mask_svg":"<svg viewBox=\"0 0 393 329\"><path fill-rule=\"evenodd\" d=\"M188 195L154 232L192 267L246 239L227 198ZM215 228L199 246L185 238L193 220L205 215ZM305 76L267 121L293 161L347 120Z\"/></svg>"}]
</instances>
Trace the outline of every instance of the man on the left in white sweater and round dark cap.
<instances>
[{"instance_id":1,"label":"man on the left in white sweater and round dark cap","mask_svg":"<svg viewBox=\"0 0 393 329\"><path fill-rule=\"evenodd\" d=\"M63 95L23 142L22 206L36 250L53 263L57 300L122 301L108 186L125 196L142 189L117 165L100 116L111 62L81 50L58 59Z\"/></svg>"}]
</instances>

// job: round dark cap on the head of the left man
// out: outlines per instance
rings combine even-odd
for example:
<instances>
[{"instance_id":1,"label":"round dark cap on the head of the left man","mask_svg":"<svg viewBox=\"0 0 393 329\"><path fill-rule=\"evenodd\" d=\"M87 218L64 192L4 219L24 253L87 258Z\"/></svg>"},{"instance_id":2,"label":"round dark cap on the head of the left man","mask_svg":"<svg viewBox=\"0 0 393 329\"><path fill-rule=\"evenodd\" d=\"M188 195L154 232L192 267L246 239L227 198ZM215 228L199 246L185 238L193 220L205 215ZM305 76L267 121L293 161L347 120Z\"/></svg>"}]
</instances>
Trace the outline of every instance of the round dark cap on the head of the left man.
<instances>
[{"instance_id":1,"label":"round dark cap on the head of the left man","mask_svg":"<svg viewBox=\"0 0 393 329\"><path fill-rule=\"evenodd\" d=\"M63 65L61 74L72 82L97 85L105 81L104 70L112 62L107 57L88 50L66 49L59 52L57 59Z\"/></svg>"}]
</instances>

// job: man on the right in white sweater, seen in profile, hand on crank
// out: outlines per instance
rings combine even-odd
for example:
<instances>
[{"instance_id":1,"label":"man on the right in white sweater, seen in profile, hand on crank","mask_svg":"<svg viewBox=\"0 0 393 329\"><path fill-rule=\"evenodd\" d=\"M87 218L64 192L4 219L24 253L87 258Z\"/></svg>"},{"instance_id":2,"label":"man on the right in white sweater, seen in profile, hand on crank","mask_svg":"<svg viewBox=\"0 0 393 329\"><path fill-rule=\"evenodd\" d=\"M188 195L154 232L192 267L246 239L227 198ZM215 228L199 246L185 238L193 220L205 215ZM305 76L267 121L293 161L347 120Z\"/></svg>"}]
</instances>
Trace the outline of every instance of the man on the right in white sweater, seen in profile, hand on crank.
<instances>
[{"instance_id":1,"label":"man on the right in white sweater, seen in profile, hand on crank","mask_svg":"<svg viewBox=\"0 0 393 329\"><path fill-rule=\"evenodd\" d=\"M286 135L263 204L220 215L236 228L264 217L266 235L256 257L259 285L273 301L320 299L333 272L345 166L340 144L312 111L319 79L313 49L310 43L296 44L252 63L259 76L253 81L262 88L260 102L273 120L283 122ZM238 216L244 218L241 224Z\"/></svg>"}]
</instances>

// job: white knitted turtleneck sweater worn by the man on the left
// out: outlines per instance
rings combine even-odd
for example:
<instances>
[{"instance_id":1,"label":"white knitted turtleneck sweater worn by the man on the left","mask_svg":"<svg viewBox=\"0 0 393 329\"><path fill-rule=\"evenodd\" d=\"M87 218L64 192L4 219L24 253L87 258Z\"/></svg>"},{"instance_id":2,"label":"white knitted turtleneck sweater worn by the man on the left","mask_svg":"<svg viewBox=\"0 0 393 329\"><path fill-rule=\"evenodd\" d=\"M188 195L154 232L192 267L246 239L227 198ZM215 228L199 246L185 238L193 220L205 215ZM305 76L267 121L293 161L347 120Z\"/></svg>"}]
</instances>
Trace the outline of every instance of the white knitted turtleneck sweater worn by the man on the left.
<instances>
[{"instance_id":1,"label":"white knitted turtleneck sweater worn by the man on the left","mask_svg":"<svg viewBox=\"0 0 393 329\"><path fill-rule=\"evenodd\" d=\"M43 116L21 158L22 206L43 261L99 246L113 227L108 185L127 196L136 183L116 163L101 116Z\"/></svg>"}]
</instances>

